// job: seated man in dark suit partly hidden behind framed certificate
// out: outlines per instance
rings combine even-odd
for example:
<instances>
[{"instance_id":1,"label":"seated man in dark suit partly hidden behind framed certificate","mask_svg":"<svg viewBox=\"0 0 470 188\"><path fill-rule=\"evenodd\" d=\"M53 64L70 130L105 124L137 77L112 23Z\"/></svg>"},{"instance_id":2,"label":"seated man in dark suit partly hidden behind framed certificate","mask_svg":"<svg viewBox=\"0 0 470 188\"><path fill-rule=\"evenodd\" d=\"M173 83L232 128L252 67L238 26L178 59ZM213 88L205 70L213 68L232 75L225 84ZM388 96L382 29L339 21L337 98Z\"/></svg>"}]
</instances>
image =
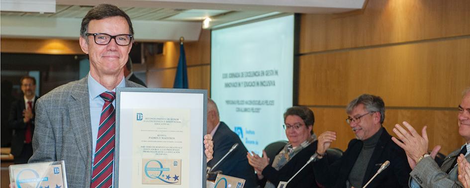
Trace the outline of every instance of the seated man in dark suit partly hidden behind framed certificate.
<instances>
[{"instance_id":1,"label":"seated man in dark suit partly hidden behind framed certificate","mask_svg":"<svg viewBox=\"0 0 470 188\"><path fill-rule=\"evenodd\" d=\"M238 135L220 121L217 105L210 98L207 99L207 134L212 135L214 142L214 159L207 163L207 167L212 168L235 143L238 143L238 147L212 169L212 172L222 171L223 175L245 179L245 188L255 188L257 186L255 170L248 164L246 158L248 150Z\"/></svg>"}]
</instances>

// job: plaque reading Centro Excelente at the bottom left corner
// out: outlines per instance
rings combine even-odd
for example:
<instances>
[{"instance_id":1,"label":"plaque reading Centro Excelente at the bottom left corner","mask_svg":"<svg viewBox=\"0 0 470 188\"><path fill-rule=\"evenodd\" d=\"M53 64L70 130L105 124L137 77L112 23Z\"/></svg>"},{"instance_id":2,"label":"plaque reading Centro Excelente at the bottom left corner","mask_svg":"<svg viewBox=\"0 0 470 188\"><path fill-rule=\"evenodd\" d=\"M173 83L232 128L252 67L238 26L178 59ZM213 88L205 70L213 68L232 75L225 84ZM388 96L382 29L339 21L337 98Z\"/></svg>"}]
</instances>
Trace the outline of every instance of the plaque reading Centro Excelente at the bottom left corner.
<instances>
[{"instance_id":1,"label":"plaque reading Centro Excelente at the bottom left corner","mask_svg":"<svg viewBox=\"0 0 470 188\"><path fill-rule=\"evenodd\" d=\"M64 161L10 165L8 170L16 188L67 188Z\"/></svg>"}]
</instances>

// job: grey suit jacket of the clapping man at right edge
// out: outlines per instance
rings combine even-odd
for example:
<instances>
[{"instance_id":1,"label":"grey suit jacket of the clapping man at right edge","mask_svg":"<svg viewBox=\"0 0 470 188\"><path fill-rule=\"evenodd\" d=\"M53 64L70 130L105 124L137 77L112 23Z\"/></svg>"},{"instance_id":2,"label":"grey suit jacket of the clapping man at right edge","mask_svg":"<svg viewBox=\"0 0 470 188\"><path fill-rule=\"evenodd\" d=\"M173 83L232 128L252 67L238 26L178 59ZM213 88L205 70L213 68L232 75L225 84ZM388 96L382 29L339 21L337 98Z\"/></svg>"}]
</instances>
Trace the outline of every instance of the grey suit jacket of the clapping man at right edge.
<instances>
[{"instance_id":1,"label":"grey suit jacket of the clapping man at right edge","mask_svg":"<svg viewBox=\"0 0 470 188\"><path fill-rule=\"evenodd\" d=\"M460 150L459 148L449 154L441 167L431 157L424 158L411 171L410 178L414 179L423 188L463 188L462 183L457 178L458 167L451 167ZM470 161L470 155L466 159ZM453 169L447 174L449 168Z\"/></svg>"}]
</instances>

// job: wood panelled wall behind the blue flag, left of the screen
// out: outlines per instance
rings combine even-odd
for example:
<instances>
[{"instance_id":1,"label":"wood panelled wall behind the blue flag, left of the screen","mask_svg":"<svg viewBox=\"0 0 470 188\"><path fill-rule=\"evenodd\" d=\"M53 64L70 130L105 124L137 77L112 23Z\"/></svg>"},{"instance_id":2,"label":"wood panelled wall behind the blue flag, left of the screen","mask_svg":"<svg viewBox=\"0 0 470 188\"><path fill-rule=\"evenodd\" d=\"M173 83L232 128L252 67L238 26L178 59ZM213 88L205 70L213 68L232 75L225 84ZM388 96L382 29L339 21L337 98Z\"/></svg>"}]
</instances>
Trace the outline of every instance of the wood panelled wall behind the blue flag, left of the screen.
<instances>
[{"instance_id":1,"label":"wood panelled wall behind the blue flag, left of the screen","mask_svg":"<svg viewBox=\"0 0 470 188\"><path fill-rule=\"evenodd\" d=\"M202 30L199 40L185 42L189 89L210 88L210 31ZM147 86L173 88L180 43L166 42L163 54L150 56L147 61ZM209 92L209 91L208 91Z\"/></svg>"}]
</instances>

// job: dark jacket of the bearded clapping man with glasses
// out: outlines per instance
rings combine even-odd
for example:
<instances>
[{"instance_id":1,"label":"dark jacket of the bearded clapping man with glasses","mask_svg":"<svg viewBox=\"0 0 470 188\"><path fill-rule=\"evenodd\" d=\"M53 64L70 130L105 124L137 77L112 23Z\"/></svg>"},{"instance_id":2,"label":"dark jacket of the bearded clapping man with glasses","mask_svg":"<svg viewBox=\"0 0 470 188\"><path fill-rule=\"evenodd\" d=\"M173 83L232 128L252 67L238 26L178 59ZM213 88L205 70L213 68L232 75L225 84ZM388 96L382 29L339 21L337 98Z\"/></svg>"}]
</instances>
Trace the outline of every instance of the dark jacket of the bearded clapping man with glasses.
<instances>
[{"instance_id":1,"label":"dark jacket of the bearded clapping man with glasses","mask_svg":"<svg viewBox=\"0 0 470 188\"><path fill-rule=\"evenodd\" d=\"M329 164L326 157L314 162L313 168L317 182L327 188L344 188L362 146L362 141L353 139L349 142L343 156L333 164ZM391 136L385 128L383 128L368 163L362 187L376 174L380 165L386 160L390 161L390 165L377 175L368 188L408 188L411 169L405 151L391 140Z\"/></svg>"}]
</instances>

